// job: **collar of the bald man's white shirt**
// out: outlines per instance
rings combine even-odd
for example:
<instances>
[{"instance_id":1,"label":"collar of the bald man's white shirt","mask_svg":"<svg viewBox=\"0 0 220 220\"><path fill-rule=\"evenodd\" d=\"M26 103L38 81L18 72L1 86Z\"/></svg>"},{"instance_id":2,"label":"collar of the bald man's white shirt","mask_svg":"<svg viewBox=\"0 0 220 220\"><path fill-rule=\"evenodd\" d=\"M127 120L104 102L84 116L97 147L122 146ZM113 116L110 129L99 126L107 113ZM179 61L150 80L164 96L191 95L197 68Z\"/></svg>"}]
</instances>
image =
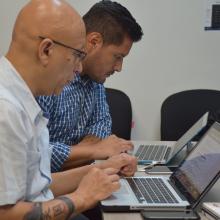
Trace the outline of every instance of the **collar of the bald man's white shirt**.
<instances>
[{"instance_id":1,"label":"collar of the bald man's white shirt","mask_svg":"<svg viewBox=\"0 0 220 220\"><path fill-rule=\"evenodd\" d=\"M1 80L1 83L6 88L10 88L10 92L13 93L13 96L15 96L17 100L19 100L23 108L30 115L31 120L35 122L35 120L39 116L42 116L43 113L30 88L6 57L0 58L0 65L3 68L1 74L4 75L4 79Z\"/></svg>"}]
</instances>

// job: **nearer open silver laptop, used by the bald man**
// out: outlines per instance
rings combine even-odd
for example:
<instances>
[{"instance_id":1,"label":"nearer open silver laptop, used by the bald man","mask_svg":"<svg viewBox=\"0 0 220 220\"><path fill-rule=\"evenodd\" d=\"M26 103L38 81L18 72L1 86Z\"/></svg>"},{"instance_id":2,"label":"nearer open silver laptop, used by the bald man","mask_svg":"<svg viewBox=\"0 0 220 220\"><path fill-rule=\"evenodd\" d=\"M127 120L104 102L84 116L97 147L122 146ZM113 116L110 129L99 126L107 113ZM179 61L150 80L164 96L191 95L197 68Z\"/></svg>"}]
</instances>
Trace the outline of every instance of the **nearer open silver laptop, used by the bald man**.
<instances>
[{"instance_id":1,"label":"nearer open silver laptop, used by the bald man","mask_svg":"<svg viewBox=\"0 0 220 220\"><path fill-rule=\"evenodd\" d=\"M122 178L101 202L104 211L194 209L220 176L220 124L215 122L169 176Z\"/></svg>"}]
</instances>

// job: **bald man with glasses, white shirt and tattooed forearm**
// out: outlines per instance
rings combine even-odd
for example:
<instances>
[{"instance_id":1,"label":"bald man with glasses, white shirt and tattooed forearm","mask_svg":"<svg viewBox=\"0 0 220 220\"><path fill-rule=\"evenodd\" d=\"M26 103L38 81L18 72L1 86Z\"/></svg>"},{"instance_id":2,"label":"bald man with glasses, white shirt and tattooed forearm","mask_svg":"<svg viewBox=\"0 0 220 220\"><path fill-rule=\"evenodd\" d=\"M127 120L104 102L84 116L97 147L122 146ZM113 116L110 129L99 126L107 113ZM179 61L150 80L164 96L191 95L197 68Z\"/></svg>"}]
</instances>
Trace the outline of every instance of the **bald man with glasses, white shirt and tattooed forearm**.
<instances>
[{"instance_id":1,"label":"bald man with glasses, white shirt and tattooed forearm","mask_svg":"<svg viewBox=\"0 0 220 220\"><path fill-rule=\"evenodd\" d=\"M65 1L33 0L17 17L0 58L1 220L72 218L119 188L116 173L135 171L135 159L121 154L50 173L48 119L34 97L59 94L82 71L84 45L84 23Z\"/></svg>"}]
</instances>

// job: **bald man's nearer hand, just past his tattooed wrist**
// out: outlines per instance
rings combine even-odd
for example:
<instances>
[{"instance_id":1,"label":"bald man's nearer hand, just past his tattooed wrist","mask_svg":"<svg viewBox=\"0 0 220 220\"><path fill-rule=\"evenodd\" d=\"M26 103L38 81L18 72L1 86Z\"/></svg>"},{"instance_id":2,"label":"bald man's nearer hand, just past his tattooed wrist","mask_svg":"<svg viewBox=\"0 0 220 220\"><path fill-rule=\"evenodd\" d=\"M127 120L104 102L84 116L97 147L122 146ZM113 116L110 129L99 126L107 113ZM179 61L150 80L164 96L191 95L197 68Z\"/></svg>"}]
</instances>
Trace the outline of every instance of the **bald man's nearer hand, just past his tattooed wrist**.
<instances>
[{"instance_id":1,"label":"bald man's nearer hand, just past his tattooed wrist","mask_svg":"<svg viewBox=\"0 0 220 220\"><path fill-rule=\"evenodd\" d=\"M118 172L119 170L114 168L103 170L92 168L83 177L79 187L74 192L74 195L81 198L80 206L82 207L83 204L83 210L93 207L98 201L109 197L120 188Z\"/></svg>"}]
</instances>

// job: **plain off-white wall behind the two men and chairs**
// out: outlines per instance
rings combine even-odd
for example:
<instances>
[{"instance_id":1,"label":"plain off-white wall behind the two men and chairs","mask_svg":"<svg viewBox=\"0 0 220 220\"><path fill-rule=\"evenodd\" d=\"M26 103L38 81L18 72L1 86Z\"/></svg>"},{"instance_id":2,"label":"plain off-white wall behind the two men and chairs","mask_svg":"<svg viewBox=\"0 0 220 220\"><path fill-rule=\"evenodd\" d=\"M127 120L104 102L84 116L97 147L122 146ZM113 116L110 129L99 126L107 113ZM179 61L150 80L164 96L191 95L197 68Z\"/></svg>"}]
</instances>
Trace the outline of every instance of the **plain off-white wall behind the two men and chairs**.
<instances>
[{"instance_id":1,"label":"plain off-white wall behind the two men and chairs","mask_svg":"<svg viewBox=\"0 0 220 220\"><path fill-rule=\"evenodd\" d=\"M25 0L0 5L0 54L7 51L12 24ZM95 0L69 0L84 14ZM118 0L141 24L144 38L134 44L121 73L107 87L125 91L132 101L133 139L159 139L160 107L185 89L220 90L220 32L204 31L203 0Z\"/></svg>"}]
</instances>

